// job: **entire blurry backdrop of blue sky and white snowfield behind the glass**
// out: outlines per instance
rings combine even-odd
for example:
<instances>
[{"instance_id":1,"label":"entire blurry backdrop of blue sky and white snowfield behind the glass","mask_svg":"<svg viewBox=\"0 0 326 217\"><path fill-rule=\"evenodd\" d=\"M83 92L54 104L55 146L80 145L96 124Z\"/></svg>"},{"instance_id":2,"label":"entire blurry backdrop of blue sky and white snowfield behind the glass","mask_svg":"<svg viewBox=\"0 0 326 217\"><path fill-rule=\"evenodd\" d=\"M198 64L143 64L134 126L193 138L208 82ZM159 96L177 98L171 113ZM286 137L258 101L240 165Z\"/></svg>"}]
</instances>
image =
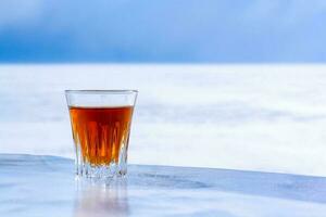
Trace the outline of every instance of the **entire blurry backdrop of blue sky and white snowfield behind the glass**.
<instances>
[{"instance_id":1,"label":"entire blurry backdrop of blue sky and white snowfield behind the glass","mask_svg":"<svg viewBox=\"0 0 326 217\"><path fill-rule=\"evenodd\" d=\"M73 157L64 89L138 89L129 162L326 176L326 3L2 0L0 152Z\"/></svg>"}]
</instances>

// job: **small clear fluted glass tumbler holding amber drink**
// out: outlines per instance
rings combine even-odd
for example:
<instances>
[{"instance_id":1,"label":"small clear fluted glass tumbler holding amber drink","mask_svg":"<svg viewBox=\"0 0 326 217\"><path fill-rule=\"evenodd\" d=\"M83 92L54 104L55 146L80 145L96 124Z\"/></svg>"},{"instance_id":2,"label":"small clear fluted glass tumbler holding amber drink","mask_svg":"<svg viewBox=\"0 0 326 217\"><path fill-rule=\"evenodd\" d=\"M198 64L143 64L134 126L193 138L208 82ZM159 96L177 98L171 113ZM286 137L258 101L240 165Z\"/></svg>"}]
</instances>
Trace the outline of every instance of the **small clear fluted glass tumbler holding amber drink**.
<instances>
[{"instance_id":1,"label":"small clear fluted glass tumbler holding amber drink","mask_svg":"<svg viewBox=\"0 0 326 217\"><path fill-rule=\"evenodd\" d=\"M76 174L89 178L124 176L136 90L66 90Z\"/></svg>"}]
</instances>

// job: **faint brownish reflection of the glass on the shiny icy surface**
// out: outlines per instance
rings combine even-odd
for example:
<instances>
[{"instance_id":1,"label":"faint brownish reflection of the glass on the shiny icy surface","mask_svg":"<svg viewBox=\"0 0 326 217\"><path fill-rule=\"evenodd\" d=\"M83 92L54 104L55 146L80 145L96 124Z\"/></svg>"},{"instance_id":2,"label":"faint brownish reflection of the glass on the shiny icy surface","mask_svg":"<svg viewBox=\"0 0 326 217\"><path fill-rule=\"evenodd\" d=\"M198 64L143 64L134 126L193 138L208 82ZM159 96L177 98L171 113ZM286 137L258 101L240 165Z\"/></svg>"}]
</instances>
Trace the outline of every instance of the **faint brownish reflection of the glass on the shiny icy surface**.
<instances>
[{"instance_id":1,"label":"faint brownish reflection of the glass on the shiny icy surface","mask_svg":"<svg viewBox=\"0 0 326 217\"><path fill-rule=\"evenodd\" d=\"M126 180L116 179L110 184L78 180L77 184L74 217L128 216Z\"/></svg>"}]
</instances>

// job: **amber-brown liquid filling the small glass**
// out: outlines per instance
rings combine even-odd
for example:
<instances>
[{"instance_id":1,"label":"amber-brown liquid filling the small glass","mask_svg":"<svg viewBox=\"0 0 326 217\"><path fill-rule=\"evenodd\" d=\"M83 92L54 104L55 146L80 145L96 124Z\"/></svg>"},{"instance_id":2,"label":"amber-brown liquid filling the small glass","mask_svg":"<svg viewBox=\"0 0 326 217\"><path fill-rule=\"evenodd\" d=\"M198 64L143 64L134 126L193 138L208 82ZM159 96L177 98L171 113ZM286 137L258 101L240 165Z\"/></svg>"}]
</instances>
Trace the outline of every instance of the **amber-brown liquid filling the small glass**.
<instances>
[{"instance_id":1,"label":"amber-brown liquid filling the small glass","mask_svg":"<svg viewBox=\"0 0 326 217\"><path fill-rule=\"evenodd\" d=\"M127 151L133 110L70 107L74 141L84 162L92 166L118 163L121 150Z\"/></svg>"}]
</instances>

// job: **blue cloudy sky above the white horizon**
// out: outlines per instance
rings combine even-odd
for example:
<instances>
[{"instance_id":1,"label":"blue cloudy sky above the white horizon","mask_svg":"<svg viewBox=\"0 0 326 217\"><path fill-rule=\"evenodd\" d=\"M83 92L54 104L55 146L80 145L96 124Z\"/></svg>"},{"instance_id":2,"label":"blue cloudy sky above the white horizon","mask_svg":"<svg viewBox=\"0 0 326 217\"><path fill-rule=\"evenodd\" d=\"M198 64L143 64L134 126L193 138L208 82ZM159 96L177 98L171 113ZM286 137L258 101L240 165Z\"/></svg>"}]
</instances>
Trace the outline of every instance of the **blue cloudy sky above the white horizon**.
<instances>
[{"instance_id":1,"label":"blue cloudy sky above the white horizon","mask_svg":"<svg viewBox=\"0 0 326 217\"><path fill-rule=\"evenodd\" d=\"M1 0L0 62L324 63L323 0Z\"/></svg>"}]
</instances>

